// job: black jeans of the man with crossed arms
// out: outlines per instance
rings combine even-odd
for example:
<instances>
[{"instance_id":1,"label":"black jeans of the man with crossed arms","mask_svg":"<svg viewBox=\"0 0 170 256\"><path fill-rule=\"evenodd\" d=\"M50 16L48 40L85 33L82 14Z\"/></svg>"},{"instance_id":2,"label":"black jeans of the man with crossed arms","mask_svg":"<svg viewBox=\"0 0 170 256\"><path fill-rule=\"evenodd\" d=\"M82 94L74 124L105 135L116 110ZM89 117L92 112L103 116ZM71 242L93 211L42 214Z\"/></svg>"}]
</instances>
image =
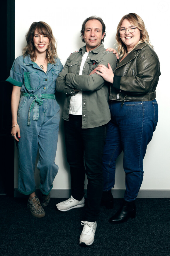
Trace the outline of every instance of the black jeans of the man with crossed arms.
<instances>
[{"instance_id":1,"label":"black jeans of the man with crossed arms","mask_svg":"<svg viewBox=\"0 0 170 256\"><path fill-rule=\"evenodd\" d=\"M67 161L70 165L72 196L76 200L84 196L85 173L87 175L84 221L95 222L103 191L102 154L106 125L82 129L81 124L81 115L69 114L69 121L64 121Z\"/></svg>"}]
</instances>

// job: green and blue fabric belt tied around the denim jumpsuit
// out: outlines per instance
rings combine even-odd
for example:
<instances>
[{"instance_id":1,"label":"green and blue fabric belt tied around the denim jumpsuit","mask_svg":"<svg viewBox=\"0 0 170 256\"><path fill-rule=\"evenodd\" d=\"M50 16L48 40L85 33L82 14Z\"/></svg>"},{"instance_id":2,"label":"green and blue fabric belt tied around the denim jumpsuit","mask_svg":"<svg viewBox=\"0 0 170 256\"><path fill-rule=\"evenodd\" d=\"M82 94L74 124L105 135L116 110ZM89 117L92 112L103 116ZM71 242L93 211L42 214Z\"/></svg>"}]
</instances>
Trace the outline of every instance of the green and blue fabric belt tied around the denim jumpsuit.
<instances>
[{"instance_id":1,"label":"green and blue fabric belt tied around the denim jumpsuit","mask_svg":"<svg viewBox=\"0 0 170 256\"><path fill-rule=\"evenodd\" d=\"M33 102L30 104L30 108L28 110L28 125L31 124L31 121L30 121L30 112L33 108L33 120L38 120L39 118L39 105L41 106L43 104L43 99L55 99L55 94L50 94L50 93L47 93L47 94L30 94L30 93L26 93L26 92L23 92L21 96L24 96L24 97L34 97L34 100ZM37 103L35 105L35 102ZM35 111L34 111L35 110Z\"/></svg>"}]
</instances>

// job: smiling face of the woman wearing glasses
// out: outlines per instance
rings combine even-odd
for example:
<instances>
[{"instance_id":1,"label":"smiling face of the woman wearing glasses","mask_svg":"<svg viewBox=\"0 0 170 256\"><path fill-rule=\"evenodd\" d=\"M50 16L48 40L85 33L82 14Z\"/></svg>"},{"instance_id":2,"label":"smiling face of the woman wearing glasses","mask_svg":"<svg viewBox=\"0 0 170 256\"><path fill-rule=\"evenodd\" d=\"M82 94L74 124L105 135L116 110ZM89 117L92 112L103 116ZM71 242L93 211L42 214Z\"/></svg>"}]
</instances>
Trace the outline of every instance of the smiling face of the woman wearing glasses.
<instances>
[{"instance_id":1,"label":"smiling face of the woman wearing glasses","mask_svg":"<svg viewBox=\"0 0 170 256\"><path fill-rule=\"evenodd\" d=\"M126 33L120 35L120 38L122 42L126 45L127 51L131 51L134 48L135 44L140 41L141 35L138 28L135 29L135 32L130 33L127 29L128 26L133 26L133 24L131 24L130 21L128 21L127 19L124 19L120 27L124 27L126 29Z\"/></svg>"}]
</instances>

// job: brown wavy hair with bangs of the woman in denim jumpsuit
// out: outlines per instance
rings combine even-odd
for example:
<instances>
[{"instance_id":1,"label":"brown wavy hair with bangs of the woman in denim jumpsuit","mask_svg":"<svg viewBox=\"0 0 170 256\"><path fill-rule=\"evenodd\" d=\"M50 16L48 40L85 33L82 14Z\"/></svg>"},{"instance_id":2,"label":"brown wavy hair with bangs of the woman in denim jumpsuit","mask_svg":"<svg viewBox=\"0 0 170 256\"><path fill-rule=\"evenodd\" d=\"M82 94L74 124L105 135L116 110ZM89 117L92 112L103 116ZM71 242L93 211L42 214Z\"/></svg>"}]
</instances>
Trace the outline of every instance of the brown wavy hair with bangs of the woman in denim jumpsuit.
<instances>
[{"instance_id":1,"label":"brown wavy hair with bangs of the woman in denim jumpsuit","mask_svg":"<svg viewBox=\"0 0 170 256\"><path fill-rule=\"evenodd\" d=\"M36 53L35 53L35 46L33 44L33 36L34 36L36 29L39 34L45 35L48 37L49 44L47 46L46 58L47 58L48 63L54 64L55 58L58 57L57 50L56 50L57 44L56 44L55 38L52 34L52 29L50 28L50 26L47 23L45 23L43 21L33 22L31 24L31 26L26 34L27 45L22 50L23 56L25 57L26 55L30 54L31 61L35 61L37 58Z\"/></svg>"}]
</instances>

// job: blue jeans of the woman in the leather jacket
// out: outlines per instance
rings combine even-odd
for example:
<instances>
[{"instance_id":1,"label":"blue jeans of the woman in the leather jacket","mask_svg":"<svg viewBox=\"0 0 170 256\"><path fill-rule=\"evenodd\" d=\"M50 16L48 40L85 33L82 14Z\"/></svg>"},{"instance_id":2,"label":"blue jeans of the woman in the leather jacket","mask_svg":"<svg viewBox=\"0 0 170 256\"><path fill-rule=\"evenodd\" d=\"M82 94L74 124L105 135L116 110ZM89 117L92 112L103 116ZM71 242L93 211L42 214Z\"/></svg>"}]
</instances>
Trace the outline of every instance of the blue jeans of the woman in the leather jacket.
<instances>
[{"instance_id":1,"label":"blue jeans of the woman in the leather jacket","mask_svg":"<svg viewBox=\"0 0 170 256\"><path fill-rule=\"evenodd\" d=\"M110 102L111 120L108 123L103 150L103 191L115 184L115 162L123 151L125 171L125 200L136 199L143 180L143 159L158 122L156 99L143 102Z\"/></svg>"}]
</instances>

